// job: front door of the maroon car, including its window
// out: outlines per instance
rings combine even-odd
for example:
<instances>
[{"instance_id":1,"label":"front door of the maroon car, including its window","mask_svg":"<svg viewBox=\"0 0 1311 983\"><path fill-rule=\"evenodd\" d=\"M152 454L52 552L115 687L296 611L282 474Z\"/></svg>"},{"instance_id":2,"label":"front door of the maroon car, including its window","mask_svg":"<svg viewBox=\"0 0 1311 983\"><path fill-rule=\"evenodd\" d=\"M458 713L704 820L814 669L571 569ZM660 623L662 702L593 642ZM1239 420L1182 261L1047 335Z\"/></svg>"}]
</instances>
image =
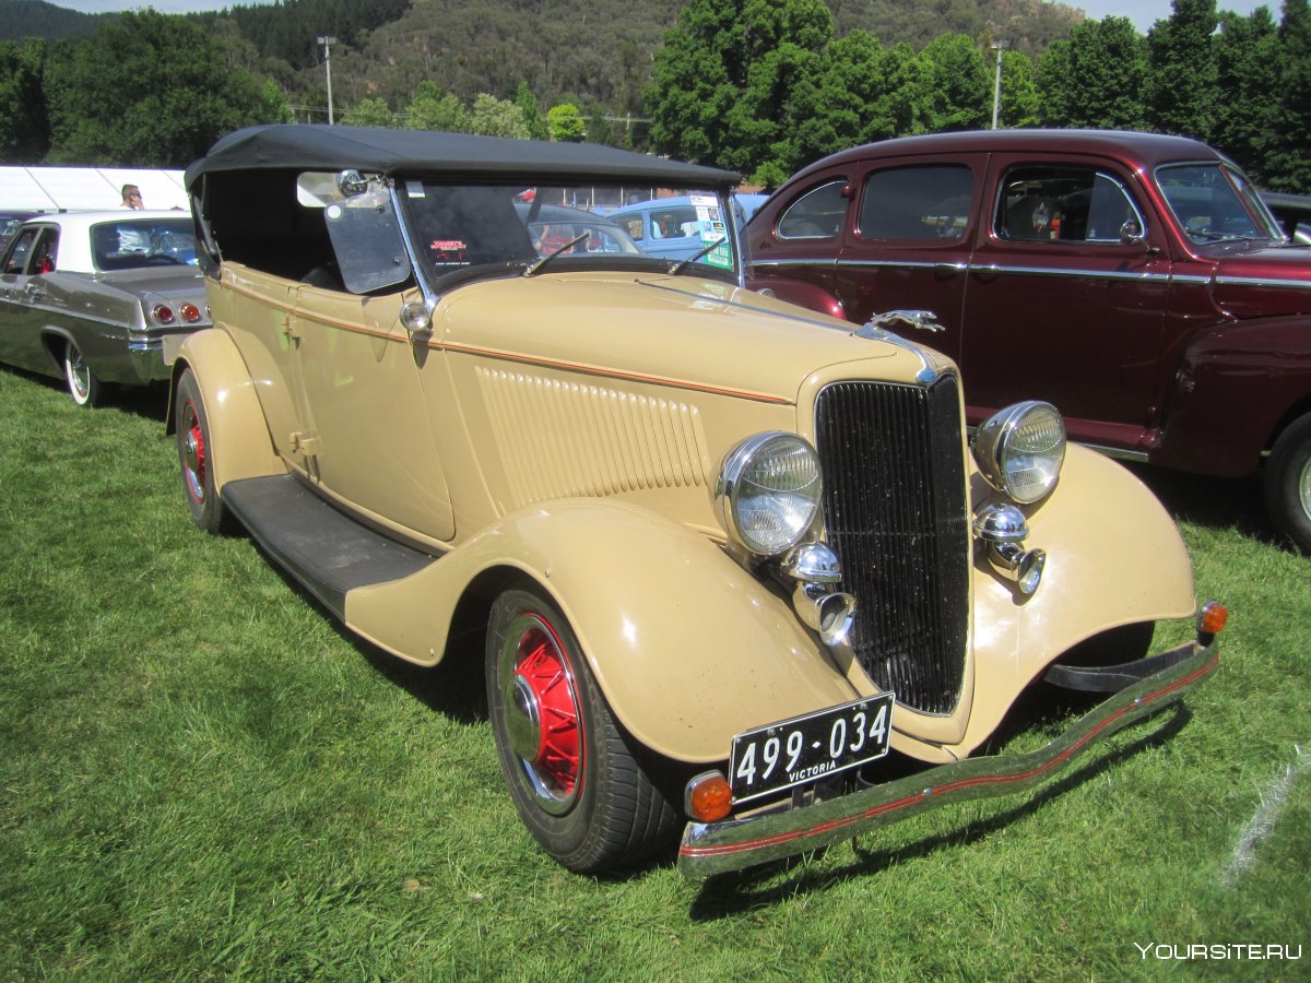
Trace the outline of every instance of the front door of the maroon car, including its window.
<instances>
[{"instance_id":1,"label":"front door of the maroon car, including its window","mask_svg":"<svg viewBox=\"0 0 1311 983\"><path fill-rule=\"evenodd\" d=\"M996 153L965 294L970 422L1046 400L1075 439L1137 448L1158 413L1164 231L1114 161Z\"/></svg>"}]
</instances>

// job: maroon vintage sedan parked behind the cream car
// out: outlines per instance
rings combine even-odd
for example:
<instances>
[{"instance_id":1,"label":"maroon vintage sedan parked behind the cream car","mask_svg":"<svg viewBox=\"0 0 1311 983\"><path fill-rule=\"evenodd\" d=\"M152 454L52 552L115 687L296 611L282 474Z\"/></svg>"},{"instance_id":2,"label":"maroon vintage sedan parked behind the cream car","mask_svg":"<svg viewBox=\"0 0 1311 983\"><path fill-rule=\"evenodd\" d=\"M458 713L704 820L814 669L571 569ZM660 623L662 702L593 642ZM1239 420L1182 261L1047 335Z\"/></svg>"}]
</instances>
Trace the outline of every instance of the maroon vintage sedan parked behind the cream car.
<instances>
[{"instance_id":1,"label":"maroon vintage sedan parked behind the cream car","mask_svg":"<svg viewBox=\"0 0 1311 983\"><path fill-rule=\"evenodd\" d=\"M1311 249L1206 144L886 140L793 176L746 236L754 287L952 355L971 423L1038 398L1120 457L1264 464L1273 520L1311 552Z\"/></svg>"}]
</instances>

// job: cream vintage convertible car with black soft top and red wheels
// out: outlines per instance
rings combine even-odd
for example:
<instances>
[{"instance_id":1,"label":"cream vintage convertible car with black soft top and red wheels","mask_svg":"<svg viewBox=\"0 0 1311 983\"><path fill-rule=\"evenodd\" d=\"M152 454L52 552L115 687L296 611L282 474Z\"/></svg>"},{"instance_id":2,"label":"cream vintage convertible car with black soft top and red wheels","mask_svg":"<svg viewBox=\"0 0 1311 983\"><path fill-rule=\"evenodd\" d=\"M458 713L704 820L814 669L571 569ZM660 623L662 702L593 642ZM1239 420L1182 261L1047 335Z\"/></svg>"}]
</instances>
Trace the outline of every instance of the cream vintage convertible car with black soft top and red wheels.
<instances>
[{"instance_id":1,"label":"cream vintage convertible car with black soft top and red wheels","mask_svg":"<svg viewBox=\"0 0 1311 983\"><path fill-rule=\"evenodd\" d=\"M970 444L945 357L745 290L735 183L321 126L187 170L215 318L174 363L193 518L402 659L480 637L510 796L578 872L682 831L699 878L1019 792L1217 663L1224 609L1135 478L1041 402ZM701 254L527 231L633 193L686 195ZM1192 641L1148 657L1172 619ZM1105 697L970 758L1038 680Z\"/></svg>"}]
</instances>

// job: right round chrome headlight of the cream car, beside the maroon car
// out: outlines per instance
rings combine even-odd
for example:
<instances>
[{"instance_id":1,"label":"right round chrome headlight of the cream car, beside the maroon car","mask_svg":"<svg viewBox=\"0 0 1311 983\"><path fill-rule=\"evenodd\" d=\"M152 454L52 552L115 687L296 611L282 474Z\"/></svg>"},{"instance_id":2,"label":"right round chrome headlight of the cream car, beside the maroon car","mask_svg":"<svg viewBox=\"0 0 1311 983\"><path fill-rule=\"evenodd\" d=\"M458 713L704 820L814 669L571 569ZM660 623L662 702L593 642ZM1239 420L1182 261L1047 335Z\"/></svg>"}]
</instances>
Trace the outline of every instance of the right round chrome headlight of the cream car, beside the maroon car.
<instances>
[{"instance_id":1,"label":"right round chrome headlight of the cream car, beside the maroon car","mask_svg":"<svg viewBox=\"0 0 1311 983\"><path fill-rule=\"evenodd\" d=\"M974 460L992 488L1021 505L1037 502L1061 477L1065 421L1050 402L1017 402L974 434Z\"/></svg>"}]
</instances>

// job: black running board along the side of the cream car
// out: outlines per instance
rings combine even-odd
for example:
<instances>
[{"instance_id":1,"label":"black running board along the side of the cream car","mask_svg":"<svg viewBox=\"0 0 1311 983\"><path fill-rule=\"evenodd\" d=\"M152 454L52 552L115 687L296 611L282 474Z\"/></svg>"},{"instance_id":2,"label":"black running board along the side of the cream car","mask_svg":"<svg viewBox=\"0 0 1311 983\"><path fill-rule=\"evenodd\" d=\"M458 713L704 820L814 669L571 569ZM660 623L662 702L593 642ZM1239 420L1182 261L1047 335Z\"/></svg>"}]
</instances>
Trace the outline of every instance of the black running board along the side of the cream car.
<instances>
[{"instance_id":1,"label":"black running board along the side of the cream car","mask_svg":"<svg viewBox=\"0 0 1311 983\"><path fill-rule=\"evenodd\" d=\"M341 620L349 591L409 577L437 562L355 522L291 474L229 481L223 486L223 505Z\"/></svg>"}]
</instances>

